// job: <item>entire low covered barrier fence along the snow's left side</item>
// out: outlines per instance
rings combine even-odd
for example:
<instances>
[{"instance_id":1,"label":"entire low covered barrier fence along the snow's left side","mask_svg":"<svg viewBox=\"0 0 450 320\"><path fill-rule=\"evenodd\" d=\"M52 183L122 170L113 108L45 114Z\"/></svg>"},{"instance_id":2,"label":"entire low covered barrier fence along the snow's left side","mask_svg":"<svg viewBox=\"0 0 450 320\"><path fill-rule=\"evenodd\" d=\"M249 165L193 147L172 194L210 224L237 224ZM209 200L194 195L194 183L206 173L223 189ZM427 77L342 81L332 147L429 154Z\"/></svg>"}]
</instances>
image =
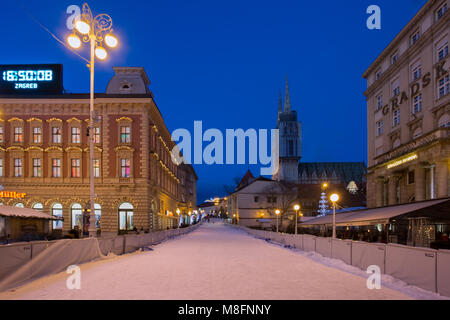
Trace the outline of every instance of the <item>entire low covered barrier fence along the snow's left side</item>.
<instances>
[{"instance_id":1,"label":"entire low covered barrier fence along the snow's left side","mask_svg":"<svg viewBox=\"0 0 450 320\"><path fill-rule=\"evenodd\" d=\"M196 230L201 223L181 229L105 238L61 239L0 245L0 291L11 289L45 275L161 243Z\"/></svg>"}]
</instances>

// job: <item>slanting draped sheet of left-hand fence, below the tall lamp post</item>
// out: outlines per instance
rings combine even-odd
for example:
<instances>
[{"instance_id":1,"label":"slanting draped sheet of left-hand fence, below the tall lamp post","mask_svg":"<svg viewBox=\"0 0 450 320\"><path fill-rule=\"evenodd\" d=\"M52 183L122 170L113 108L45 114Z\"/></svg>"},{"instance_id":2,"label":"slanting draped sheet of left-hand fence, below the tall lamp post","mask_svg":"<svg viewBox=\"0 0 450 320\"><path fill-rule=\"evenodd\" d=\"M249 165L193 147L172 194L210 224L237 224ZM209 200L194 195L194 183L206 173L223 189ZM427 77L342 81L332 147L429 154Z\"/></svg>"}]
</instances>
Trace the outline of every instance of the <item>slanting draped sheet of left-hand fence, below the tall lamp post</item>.
<instances>
[{"instance_id":1,"label":"slanting draped sheet of left-hand fence, below the tall lamp post","mask_svg":"<svg viewBox=\"0 0 450 320\"><path fill-rule=\"evenodd\" d=\"M10 273L0 282L0 291L5 291L30 280L65 270L68 266L78 265L100 257L96 238L63 239L42 251L34 259L29 260L16 271Z\"/></svg>"}]
</instances>

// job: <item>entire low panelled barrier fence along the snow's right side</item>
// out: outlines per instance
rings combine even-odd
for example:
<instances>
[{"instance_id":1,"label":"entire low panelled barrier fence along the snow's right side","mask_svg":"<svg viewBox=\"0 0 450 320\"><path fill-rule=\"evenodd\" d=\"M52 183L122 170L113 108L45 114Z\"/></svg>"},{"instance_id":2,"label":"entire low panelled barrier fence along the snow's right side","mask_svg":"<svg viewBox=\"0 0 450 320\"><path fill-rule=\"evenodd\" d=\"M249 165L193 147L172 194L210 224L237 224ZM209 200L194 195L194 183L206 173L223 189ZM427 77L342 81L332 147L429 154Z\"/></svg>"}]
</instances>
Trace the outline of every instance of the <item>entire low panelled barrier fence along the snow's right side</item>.
<instances>
[{"instance_id":1,"label":"entire low panelled barrier fence along the snow's right side","mask_svg":"<svg viewBox=\"0 0 450 320\"><path fill-rule=\"evenodd\" d=\"M367 270L370 265L377 265L381 273L450 297L450 250L332 239L307 234L294 235L238 225L231 226L242 229L257 238L342 260L362 270Z\"/></svg>"}]
</instances>

